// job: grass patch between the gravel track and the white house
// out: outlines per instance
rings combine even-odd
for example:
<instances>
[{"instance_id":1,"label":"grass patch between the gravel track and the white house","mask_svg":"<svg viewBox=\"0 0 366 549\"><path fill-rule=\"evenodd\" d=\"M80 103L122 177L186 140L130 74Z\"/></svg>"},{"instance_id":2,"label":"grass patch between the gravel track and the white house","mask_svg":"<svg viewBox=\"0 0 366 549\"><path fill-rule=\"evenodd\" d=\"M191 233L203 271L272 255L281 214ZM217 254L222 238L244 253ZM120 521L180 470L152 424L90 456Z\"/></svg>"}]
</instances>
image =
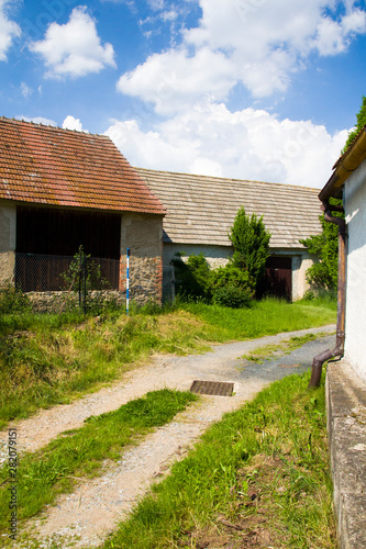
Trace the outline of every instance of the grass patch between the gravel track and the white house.
<instances>
[{"instance_id":1,"label":"grass patch between the gravel track and the white house","mask_svg":"<svg viewBox=\"0 0 366 549\"><path fill-rule=\"evenodd\" d=\"M335 549L324 386L273 383L212 426L103 549Z\"/></svg>"}]
</instances>

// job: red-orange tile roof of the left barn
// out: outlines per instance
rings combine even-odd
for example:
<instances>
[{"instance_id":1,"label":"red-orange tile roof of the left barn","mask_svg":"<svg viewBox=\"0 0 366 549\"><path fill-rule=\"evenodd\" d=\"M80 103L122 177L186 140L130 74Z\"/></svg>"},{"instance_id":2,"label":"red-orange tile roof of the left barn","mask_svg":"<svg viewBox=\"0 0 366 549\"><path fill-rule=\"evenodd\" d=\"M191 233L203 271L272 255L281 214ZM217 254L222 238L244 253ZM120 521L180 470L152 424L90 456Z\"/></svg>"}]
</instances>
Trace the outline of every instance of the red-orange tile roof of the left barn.
<instances>
[{"instance_id":1,"label":"red-orange tile roof of the left barn","mask_svg":"<svg viewBox=\"0 0 366 549\"><path fill-rule=\"evenodd\" d=\"M165 214L104 135L0 117L0 199Z\"/></svg>"}]
</instances>

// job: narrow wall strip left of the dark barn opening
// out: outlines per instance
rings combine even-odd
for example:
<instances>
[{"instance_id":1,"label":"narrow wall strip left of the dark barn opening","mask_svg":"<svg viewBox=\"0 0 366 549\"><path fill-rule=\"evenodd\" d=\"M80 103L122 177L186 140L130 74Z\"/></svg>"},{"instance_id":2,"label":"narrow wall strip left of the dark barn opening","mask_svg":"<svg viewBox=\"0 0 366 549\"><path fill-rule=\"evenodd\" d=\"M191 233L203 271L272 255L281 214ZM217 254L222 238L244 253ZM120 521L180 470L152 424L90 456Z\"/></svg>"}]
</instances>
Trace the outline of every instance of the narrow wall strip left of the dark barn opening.
<instances>
[{"instance_id":1,"label":"narrow wall strip left of the dark barn opening","mask_svg":"<svg viewBox=\"0 0 366 549\"><path fill-rule=\"evenodd\" d=\"M0 201L0 285L13 280L15 226L15 205L7 201Z\"/></svg>"}]
</instances>

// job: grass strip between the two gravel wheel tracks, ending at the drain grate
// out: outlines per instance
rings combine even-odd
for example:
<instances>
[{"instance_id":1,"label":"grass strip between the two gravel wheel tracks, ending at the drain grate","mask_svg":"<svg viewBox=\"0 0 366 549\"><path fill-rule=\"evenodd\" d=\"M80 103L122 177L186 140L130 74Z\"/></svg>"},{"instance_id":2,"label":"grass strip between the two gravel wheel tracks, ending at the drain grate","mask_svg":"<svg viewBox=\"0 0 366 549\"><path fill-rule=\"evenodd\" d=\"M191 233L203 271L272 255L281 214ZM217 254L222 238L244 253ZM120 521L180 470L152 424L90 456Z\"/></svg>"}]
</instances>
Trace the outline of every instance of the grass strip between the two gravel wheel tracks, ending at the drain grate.
<instances>
[{"instance_id":1,"label":"grass strip between the two gravel wheel tracks, ending at the drain grate","mask_svg":"<svg viewBox=\"0 0 366 549\"><path fill-rule=\"evenodd\" d=\"M76 430L66 432L45 448L21 457L18 467L18 518L36 514L57 495L70 492L76 478L100 474L104 460L117 460L122 449L141 441L198 397L190 392L154 391L119 410L91 416ZM9 525L9 472L0 470L0 531Z\"/></svg>"}]
</instances>

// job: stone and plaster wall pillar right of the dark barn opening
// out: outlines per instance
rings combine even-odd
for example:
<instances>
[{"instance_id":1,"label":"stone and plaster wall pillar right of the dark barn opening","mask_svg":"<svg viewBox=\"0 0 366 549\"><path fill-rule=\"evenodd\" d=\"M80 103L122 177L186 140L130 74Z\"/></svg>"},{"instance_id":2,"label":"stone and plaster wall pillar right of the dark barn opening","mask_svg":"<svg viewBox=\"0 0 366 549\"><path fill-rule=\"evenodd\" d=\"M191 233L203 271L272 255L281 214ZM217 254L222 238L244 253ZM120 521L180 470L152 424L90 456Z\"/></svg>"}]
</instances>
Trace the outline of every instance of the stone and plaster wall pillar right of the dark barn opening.
<instances>
[{"instance_id":1,"label":"stone and plaster wall pillar right of the dark barn opening","mask_svg":"<svg viewBox=\"0 0 366 549\"><path fill-rule=\"evenodd\" d=\"M140 304L162 301L163 216L123 213L121 283L125 290L126 248L130 248L130 299Z\"/></svg>"}]
</instances>

